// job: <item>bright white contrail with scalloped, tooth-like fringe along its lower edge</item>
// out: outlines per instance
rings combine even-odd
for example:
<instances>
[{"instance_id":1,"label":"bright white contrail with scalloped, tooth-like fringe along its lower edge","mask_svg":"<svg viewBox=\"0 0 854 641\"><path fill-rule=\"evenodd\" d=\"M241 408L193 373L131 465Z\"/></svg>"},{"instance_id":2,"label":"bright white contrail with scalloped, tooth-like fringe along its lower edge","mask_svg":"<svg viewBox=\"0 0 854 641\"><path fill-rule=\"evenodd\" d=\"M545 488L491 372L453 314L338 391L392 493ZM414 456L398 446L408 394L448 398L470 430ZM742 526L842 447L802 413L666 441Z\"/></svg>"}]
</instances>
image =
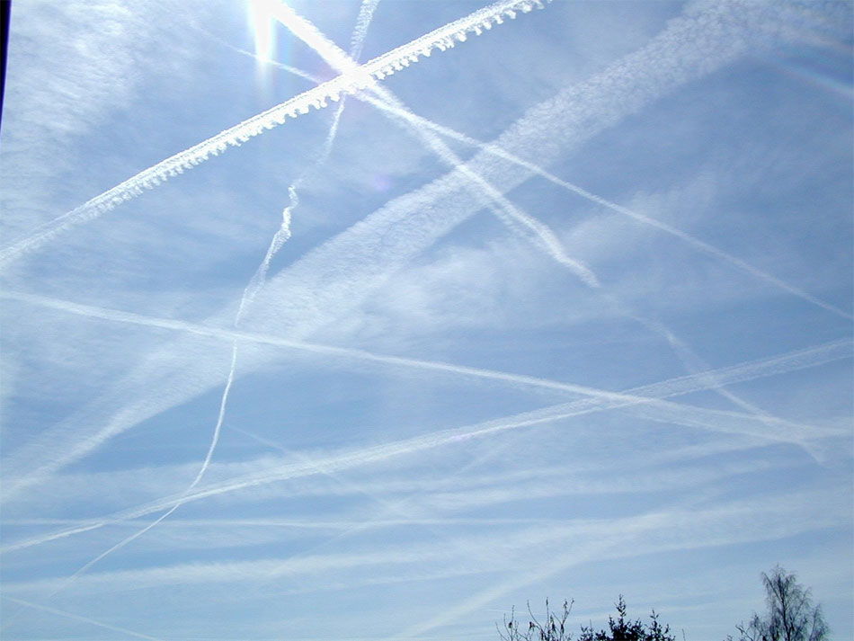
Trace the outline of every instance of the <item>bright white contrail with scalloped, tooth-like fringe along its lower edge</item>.
<instances>
[{"instance_id":1,"label":"bright white contrail with scalloped, tooth-like fringe along its lower edge","mask_svg":"<svg viewBox=\"0 0 854 641\"><path fill-rule=\"evenodd\" d=\"M328 101L340 100L343 94L356 93L375 79L382 79L408 67L422 57L430 56L434 49L442 51L449 49L456 42L467 40L467 35L470 33L480 34L484 30L491 29L494 24L501 24L504 16L515 17L517 12L527 13L537 6L542 6L543 2L550 2L550 0L502 0L502 2L490 4L465 18L449 22L444 27L373 58L364 65L355 67L350 72L337 76L323 85L300 93L234 127L225 129L216 136L203 140L131 176L123 183L87 200L76 209L37 227L30 236L0 251L0 265L10 263L23 253L37 249L69 227L100 217L122 202L136 198L144 190L152 189L169 178L192 169L208 160L210 156L222 153L228 147L237 147L249 138L284 124L289 118L298 118L311 109L321 109Z\"/></svg>"}]
</instances>

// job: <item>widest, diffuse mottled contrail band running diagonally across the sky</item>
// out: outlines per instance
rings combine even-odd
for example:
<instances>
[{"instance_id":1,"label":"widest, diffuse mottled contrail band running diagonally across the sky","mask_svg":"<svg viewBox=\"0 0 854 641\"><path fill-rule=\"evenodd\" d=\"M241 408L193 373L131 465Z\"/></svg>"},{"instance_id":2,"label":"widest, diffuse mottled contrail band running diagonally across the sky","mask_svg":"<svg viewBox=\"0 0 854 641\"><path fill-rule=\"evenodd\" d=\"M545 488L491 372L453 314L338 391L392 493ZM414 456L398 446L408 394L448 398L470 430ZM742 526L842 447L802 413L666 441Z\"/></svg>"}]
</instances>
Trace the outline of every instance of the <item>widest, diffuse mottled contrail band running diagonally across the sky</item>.
<instances>
[{"instance_id":1,"label":"widest, diffuse mottled contrail band running diagonally across the sky","mask_svg":"<svg viewBox=\"0 0 854 641\"><path fill-rule=\"evenodd\" d=\"M764 47L769 34L783 31L785 21L786 13L777 4L694 8L669 22L643 48L531 108L494 144L513 156L548 164L567 148L577 147L690 79ZM485 152L467 165L504 191L532 175ZM390 273L488 204L457 171L390 201L271 280L264 293L268 305L254 307L253 326L260 332L306 337L349 312ZM210 319L218 325L223 321L221 316ZM176 370L174 354L195 347L179 343L152 354L84 410L7 457L7 477L21 480L19 485L36 483L115 434L218 384L213 372L220 365L210 352L193 353L186 366ZM270 361L262 353L253 358L254 367ZM168 369L160 359L169 360ZM129 394L136 394L136 400L129 403Z\"/></svg>"}]
</instances>

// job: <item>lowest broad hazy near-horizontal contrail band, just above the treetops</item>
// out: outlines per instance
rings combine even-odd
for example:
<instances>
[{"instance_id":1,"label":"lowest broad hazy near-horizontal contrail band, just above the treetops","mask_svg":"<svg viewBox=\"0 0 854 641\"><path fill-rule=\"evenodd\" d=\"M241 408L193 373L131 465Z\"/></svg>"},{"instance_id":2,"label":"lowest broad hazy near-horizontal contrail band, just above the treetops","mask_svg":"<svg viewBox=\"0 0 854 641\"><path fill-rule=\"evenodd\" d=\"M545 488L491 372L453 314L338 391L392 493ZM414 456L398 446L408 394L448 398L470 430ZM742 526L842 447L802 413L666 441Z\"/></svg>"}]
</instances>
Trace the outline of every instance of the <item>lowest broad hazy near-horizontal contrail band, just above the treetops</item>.
<instances>
[{"instance_id":1,"label":"lowest broad hazy near-horizontal contrail band, just above the treetops","mask_svg":"<svg viewBox=\"0 0 854 641\"><path fill-rule=\"evenodd\" d=\"M360 570L378 565L400 565L401 571L412 569L414 564L458 565L462 559L476 559L477 565L488 565L491 569L501 564L504 551L512 554L534 554L533 550L544 546L557 546L567 552L567 542L587 546L610 543L612 553L632 556L633 546L618 546L623 539L631 539L644 546L664 548L698 548L724 545L742 540L774 539L804 532L833 527L844 522L845 516L838 510L828 510L824 494L794 493L763 496L759 499L735 500L712 507L707 505L675 505L616 519L574 519L552 525L532 524L532 527L510 534L494 532L468 536L460 541L457 550L443 543L418 542L399 546L387 546L381 550L352 551L326 555L302 555L289 558L262 558L228 563L182 563L139 569L117 570L101 574L90 574L81 580L89 590L111 591L132 586L163 588L165 585L200 585L210 583L256 582L271 575L324 576L342 570ZM837 499L842 503L844 499ZM800 517L793 519L792 513ZM645 534L654 534L647 539ZM503 545L496 546L496 537ZM619 548L619 549L617 549ZM645 549L645 551L647 551ZM552 555L547 555L551 557ZM563 556L563 555L561 555ZM567 554L567 556L573 556ZM538 561L542 561L539 558ZM512 562L515 563L515 562ZM539 565L539 563L537 564ZM526 565L512 565L516 570ZM370 574L370 573L367 573ZM6 590L12 593L43 591L55 583L55 579L37 579L21 583L9 583Z\"/></svg>"}]
</instances>

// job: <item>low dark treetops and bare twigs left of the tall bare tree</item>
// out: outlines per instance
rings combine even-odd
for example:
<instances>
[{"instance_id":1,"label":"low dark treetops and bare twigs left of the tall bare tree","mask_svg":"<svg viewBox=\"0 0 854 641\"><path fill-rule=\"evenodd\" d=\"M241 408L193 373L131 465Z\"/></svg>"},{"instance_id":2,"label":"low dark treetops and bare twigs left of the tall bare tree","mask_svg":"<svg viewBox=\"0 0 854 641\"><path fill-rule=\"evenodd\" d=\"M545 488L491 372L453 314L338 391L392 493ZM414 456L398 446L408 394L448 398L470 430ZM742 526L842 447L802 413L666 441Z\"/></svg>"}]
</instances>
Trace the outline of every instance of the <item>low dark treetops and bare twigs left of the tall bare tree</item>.
<instances>
[{"instance_id":1,"label":"low dark treetops and bare twigs left of the tall bare tree","mask_svg":"<svg viewBox=\"0 0 854 641\"><path fill-rule=\"evenodd\" d=\"M650 615L651 623L647 626L639 619L633 621L628 618L626 601L622 595L615 605L617 619L608 618L608 630L594 632L592 627L582 626L578 641L676 641L676 637L671 635L670 627L662 626L655 610ZM563 610L556 612L550 609L547 600L546 616L540 622L531 612L529 604L530 620L527 625L516 619L513 610L510 620L505 618L503 627L498 626L498 635L502 641L571 641L573 635L566 628L566 619L569 618L572 606L571 601L564 601Z\"/></svg>"}]
</instances>

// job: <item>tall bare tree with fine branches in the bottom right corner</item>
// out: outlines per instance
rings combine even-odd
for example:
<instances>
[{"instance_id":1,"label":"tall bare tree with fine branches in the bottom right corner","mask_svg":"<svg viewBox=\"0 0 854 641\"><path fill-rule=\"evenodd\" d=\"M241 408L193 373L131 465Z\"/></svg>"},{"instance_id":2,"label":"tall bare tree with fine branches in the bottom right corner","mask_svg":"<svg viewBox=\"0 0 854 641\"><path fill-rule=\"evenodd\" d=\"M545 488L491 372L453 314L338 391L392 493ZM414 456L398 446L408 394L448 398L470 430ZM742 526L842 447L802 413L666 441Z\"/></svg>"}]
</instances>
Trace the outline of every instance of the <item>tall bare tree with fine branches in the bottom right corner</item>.
<instances>
[{"instance_id":1,"label":"tall bare tree with fine branches in the bottom right corner","mask_svg":"<svg viewBox=\"0 0 854 641\"><path fill-rule=\"evenodd\" d=\"M813 606L812 594L779 565L771 574L762 573L768 613L755 612L750 621L735 627L738 637L727 641L825 641L830 630L824 622L822 606Z\"/></svg>"}]
</instances>

